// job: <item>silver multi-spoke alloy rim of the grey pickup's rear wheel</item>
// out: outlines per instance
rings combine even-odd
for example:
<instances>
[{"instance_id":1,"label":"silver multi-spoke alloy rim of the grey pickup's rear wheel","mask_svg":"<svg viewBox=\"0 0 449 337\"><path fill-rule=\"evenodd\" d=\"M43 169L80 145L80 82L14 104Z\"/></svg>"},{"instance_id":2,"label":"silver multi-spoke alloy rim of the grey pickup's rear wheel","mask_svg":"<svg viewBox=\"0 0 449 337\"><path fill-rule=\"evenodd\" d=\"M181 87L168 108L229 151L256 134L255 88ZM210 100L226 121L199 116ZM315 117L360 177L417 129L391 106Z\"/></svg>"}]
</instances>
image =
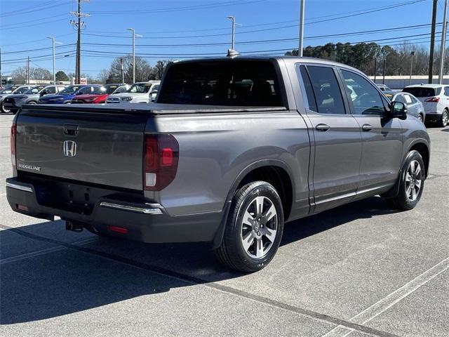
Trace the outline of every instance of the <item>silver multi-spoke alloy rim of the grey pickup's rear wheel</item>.
<instances>
[{"instance_id":1,"label":"silver multi-spoke alloy rim of the grey pickup's rear wheel","mask_svg":"<svg viewBox=\"0 0 449 337\"><path fill-rule=\"evenodd\" d=\"M241 243L251 258L263 258L272 248L278 229L278 214L273 201L255 197L245 210Z\"/></svg>"}]
</instances>

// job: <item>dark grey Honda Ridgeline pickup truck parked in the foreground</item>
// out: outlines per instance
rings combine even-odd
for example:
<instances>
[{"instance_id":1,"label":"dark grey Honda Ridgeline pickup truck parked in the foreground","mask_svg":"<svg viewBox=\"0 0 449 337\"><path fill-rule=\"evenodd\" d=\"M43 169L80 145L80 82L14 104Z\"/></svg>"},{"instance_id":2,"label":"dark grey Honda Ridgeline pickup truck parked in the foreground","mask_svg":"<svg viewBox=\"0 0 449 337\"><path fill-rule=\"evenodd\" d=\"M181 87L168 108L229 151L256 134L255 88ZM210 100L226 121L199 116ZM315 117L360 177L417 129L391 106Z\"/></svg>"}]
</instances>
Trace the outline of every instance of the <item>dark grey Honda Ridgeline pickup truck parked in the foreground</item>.
<instances>
[{"instance_id":1,"label":"dark grey Honda Ridgeline pickup truck parked in the foreground","mask_svg":"<svg viewBox=\"0 0 449 337\"><path fill-rule=\"evenodd\" d=\"M262 269L283 224L380 194L413 209L429 136L363 73L295 57L174 62L156 103L25 105L14 211L141 242L210 242Z\"/></svg>"}]
</instances>

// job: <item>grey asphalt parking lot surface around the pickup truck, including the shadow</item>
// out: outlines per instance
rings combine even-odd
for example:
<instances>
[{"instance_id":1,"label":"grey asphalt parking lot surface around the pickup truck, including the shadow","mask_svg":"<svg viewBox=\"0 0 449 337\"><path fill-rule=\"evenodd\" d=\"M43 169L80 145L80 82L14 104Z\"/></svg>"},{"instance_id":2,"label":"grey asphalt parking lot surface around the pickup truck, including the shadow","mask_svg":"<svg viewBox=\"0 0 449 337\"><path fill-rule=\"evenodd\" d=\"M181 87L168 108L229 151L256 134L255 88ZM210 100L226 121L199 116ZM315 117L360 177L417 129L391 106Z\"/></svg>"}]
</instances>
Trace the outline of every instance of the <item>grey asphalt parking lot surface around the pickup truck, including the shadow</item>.
<instances>
[{"instance_id":1,"label":"grey asphalt parking lot surface around the pickup truck, including the shadow","mask_svg":"<svg viewBox=\"0 0 449 337\"><path fill-rule=\"evenodd\" d=\"M206 244L140 244L14 213L0 115L0 336L449 336L449 128L420 204L378 197L286 225L261 272Z\"/></svg>"}]
</instances>

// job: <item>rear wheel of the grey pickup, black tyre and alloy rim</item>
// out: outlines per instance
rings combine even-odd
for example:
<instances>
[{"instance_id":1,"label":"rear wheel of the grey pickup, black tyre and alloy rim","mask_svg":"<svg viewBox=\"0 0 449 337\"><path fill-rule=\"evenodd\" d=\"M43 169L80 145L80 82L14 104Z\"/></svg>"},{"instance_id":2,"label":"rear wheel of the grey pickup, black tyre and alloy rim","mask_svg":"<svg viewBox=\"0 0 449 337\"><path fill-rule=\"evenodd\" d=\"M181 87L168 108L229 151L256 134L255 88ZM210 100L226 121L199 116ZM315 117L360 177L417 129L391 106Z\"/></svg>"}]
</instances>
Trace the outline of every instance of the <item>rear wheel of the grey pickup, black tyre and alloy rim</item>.
<instances>
[{"instance_id":1,"label":"rear wheel of the grey pickup, black tyre and alloy rim","mask_svg":"<svg viewBox=\"0 0 449 337\"><path fill-rule=\"evenodd\" d=\"M232 200L222 244L223 265L241 272L264 268L276 254L283 232L283 208L276 189L264 181L241 187Z\"/></svg>"}]
</instances>

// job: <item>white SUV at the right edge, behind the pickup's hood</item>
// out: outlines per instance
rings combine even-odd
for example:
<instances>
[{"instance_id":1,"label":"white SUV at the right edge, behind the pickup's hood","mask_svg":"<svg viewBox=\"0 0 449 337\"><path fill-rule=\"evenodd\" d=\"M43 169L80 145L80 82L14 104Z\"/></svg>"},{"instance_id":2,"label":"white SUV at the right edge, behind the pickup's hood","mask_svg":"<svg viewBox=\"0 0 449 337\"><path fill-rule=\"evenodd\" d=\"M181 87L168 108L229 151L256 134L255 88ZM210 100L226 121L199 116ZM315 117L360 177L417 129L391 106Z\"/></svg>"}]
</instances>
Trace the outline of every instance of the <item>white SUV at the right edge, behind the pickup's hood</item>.
<instances>
[{"instance_id":1,"label":"white SUV at the right edge, behind the pickup's hood","mask_svg":"<svg viewBox=\"0 0 449 337\"><path fill-rule=\"evenodd\" d=\"M436 121L440 126L447 126L449 119L449 86L441 84L421 84L406 86L403 89L411 93L424 105L426 121Z\"/></svg>"}]
</instances>

